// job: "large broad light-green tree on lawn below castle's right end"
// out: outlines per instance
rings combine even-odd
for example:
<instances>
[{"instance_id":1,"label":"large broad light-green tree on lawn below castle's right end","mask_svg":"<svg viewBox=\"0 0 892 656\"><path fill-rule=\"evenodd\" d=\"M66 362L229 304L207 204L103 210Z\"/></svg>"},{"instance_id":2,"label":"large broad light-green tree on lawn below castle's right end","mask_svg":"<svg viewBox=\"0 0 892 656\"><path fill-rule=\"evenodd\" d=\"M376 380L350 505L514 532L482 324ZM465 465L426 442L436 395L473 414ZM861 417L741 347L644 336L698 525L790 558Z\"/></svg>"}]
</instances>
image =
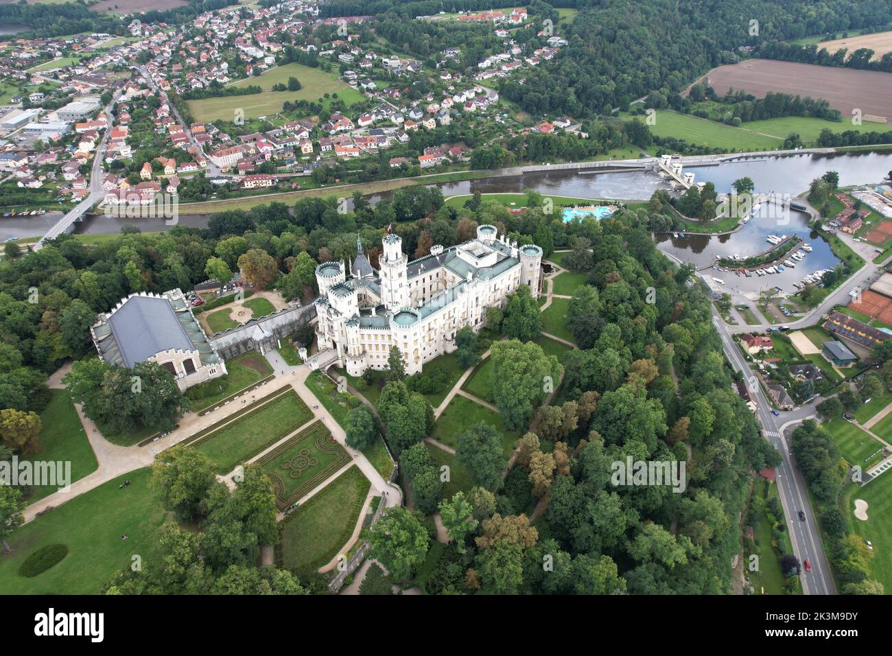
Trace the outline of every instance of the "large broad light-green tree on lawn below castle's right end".
<instances>
[{"instance_id":1,"label":"large broad light-green tree on lawn below castle's right end","mask_svg":"<svg viewBox=\"0 0 892 656\"><path fill-rule=\"evenodd\" d=\"M563 367L534 342L516 339L492 345L492 398L509 430L525 428L533 407L558 384Z\"/></svg>"}]
</instances>

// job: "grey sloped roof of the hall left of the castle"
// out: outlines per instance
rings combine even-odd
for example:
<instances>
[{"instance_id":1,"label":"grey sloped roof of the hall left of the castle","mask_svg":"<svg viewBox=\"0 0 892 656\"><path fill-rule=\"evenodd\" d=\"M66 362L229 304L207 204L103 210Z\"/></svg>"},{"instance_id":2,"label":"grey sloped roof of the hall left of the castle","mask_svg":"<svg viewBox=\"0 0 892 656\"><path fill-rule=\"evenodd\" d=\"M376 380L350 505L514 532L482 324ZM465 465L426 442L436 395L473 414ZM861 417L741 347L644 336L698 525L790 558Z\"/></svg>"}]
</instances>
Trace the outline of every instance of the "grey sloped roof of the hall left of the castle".
<instances>
[{"instance_id":1,"label":"grey sloped roof of the hall left of the castle","mask_svg":"<svg viewBox=\"0 0 892 656\"><path fill-rule=\"evenodd\" d=\"M130 296L111 314L108 322L120 359L127 367L145 362L161 351L194 350L177 312L166 298Z\"/></svg>"}]
</instances>

